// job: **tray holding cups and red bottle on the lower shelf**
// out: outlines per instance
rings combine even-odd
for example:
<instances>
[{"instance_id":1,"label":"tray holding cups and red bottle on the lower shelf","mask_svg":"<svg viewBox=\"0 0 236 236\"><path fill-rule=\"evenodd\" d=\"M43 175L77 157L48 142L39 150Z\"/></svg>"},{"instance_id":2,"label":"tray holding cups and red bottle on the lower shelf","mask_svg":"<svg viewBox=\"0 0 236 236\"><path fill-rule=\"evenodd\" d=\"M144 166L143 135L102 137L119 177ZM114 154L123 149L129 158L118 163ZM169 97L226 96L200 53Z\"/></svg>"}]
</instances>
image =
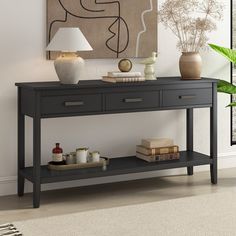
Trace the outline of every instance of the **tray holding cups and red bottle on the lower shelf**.
<instances>
[{"instance_id":1,"label":"tray holding cups and red bottle on the lower shelf","mask_svg":"<svg viewBox=\"0 0 236 236\"><path fill-rule=\"evenodd\" d=\"M104 163L105 162L105 163ZM88 162L80 164L71 164L71 165L53 165L51 162L48 162L49 170L74 170L74 169L84 169L84 168L93 168L93 167L103 167L103 165L108 165L109 159L106 157L101 157L99 162Z\"/></svg>"}]
</instances>

